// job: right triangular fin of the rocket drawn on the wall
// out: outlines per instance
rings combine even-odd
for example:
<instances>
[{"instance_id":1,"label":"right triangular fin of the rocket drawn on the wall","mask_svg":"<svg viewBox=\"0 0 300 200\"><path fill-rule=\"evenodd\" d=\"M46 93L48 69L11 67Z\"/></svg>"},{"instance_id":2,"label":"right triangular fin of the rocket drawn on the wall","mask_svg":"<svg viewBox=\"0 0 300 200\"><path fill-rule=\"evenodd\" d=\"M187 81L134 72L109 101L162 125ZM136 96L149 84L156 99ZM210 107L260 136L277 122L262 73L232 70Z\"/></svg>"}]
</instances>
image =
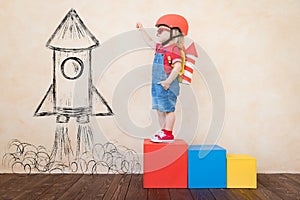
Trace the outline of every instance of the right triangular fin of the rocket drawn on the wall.
<instances>
[{"instance_id":1,"label":"right triangular fin of the rocket drawn on the wall","mask_svg":"<svg viewBox=\"0 0 300 200\"><path fill-rule=\"evenodd\" d=\"M94 116L110 116L113 115L113 111L101 96L95 86L92 86L92 115Z\"/></svg>"}]
</instances>

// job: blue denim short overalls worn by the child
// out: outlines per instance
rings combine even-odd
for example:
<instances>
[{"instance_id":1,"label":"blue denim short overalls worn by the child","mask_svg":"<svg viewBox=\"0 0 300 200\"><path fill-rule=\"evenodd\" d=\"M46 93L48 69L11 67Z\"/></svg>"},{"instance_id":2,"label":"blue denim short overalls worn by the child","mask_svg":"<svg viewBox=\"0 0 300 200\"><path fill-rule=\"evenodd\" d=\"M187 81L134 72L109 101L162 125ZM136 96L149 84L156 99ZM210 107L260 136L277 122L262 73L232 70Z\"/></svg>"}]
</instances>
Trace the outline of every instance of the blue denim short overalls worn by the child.
<instances>
[{"instance_id":1,"label":"blue denim short overalls worn by the child","mask_svg":"<svg viewBox=\"0 0 300 200\"><path fill-rule=\"evenodd\" d=\"M152 109L160 112L174 112L179 95L179 83L176 78L170 85L168 90L165 90L160 81L168 78L164 70L164 54L156 53L152 65Z\"/></svg>"}]
</instances>

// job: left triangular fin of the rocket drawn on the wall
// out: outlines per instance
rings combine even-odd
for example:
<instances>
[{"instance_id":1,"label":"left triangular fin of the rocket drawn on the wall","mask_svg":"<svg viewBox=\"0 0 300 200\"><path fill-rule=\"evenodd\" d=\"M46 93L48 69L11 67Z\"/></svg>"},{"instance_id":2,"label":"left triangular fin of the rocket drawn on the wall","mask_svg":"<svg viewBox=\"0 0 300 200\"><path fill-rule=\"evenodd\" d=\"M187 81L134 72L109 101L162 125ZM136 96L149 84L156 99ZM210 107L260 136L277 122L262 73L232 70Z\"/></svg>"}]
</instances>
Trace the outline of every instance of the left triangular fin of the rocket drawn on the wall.
<instances>
[{"instance_id":1,"label":"left triangular fin of the rocket drawn on the wall","mask_svg":"<svg viewBox=\"0 0 300 200\"><path fill-rule=\"evenodd\" d=\"M54 112L54 88L53 84L50 85L46 95L44 96L43 100L37 107L36 111L34 112L35 117L40 116L49 116L55 114Z\"/></svg>"}]
</instances>

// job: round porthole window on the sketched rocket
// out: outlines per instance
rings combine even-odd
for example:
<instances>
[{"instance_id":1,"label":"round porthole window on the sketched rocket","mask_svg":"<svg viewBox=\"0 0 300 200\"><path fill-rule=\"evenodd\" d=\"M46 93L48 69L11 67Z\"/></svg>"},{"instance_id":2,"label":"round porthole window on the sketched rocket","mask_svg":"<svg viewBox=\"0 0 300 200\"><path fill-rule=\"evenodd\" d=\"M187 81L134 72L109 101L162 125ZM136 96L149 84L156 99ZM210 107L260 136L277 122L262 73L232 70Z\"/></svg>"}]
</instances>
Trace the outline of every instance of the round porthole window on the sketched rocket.
<instances>
[{"instance_id":1,"label":"round porthole window on the sketched rocket","mask_svg":"<svg viewBox=\"0 0 300 200\"><path fill-rule=\"evenodd\" d=\"M79 58L69 57L61 64L62 75L66 79L75 80L83 73L83 62Z\"/></svg>"}]
</instances>

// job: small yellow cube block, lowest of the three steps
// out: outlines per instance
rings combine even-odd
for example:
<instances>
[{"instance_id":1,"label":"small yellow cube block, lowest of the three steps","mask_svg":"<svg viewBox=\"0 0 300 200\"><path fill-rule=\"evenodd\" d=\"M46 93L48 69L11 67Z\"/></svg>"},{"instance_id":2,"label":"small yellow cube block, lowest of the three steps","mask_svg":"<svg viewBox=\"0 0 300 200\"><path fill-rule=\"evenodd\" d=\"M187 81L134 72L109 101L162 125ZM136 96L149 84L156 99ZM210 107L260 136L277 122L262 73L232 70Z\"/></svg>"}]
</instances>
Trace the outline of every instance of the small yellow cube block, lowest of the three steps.
<instances>
[{"instance_id":1,"label":"small yellow cube block, lowest of the three steps","mask_svg":"<svg viewBox=\"0 0 300 200\"><path fill-rule=\"evenodd\" d=\"M227 188L256 188L256 159L247 154L227 154Z\"/></svg>"}]
</instances>

